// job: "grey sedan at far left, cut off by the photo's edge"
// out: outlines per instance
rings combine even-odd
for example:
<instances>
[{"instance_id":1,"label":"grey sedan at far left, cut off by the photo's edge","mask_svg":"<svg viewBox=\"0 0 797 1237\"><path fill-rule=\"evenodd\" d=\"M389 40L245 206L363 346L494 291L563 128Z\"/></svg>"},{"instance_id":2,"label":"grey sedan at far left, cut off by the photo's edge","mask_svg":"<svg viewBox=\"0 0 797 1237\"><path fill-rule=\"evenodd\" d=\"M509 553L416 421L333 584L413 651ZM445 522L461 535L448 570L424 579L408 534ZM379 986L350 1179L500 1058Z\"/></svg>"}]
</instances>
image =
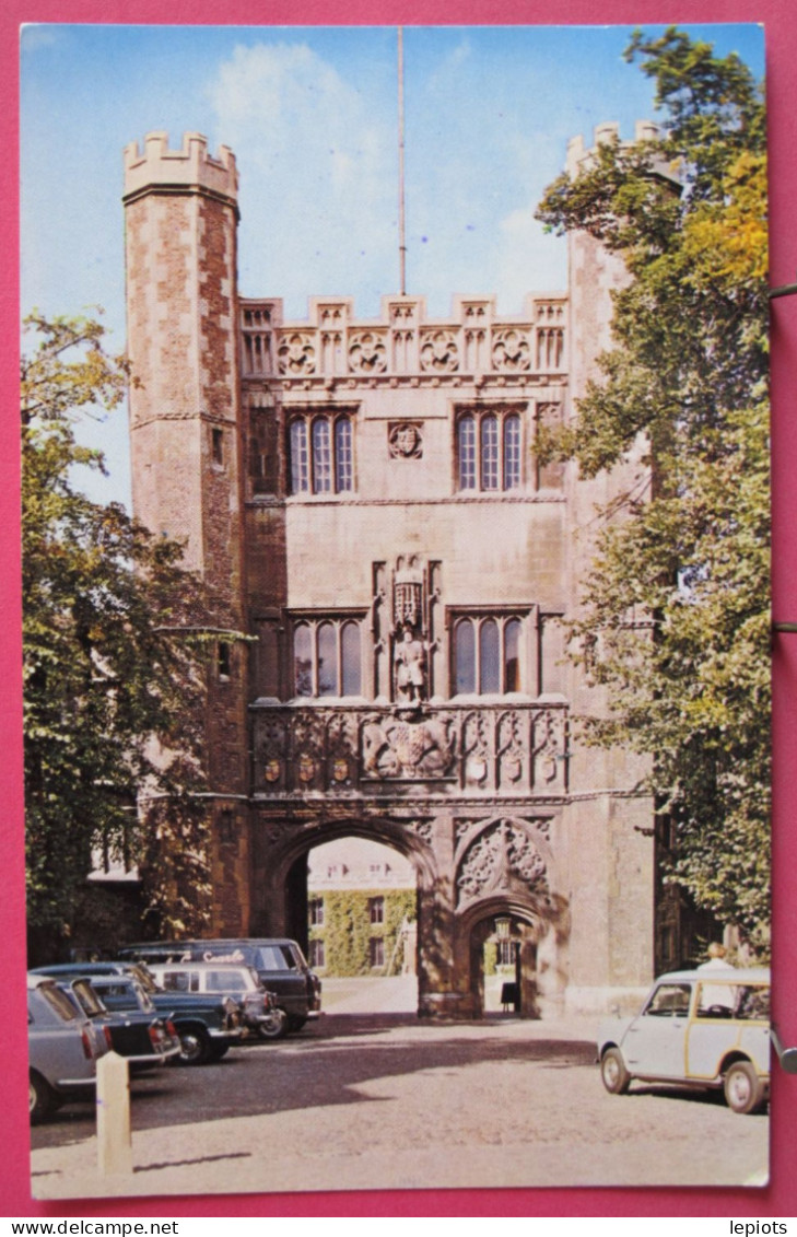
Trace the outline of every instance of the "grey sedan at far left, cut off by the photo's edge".
<instances>
[{"instance_id":1,"label":"grey sedan at far left, cut off by the photo's edge","mask_svg":"<svg viewBox=\"0 0 797 1237\"><path fill-rule=\"evenodd\" d=\"M96 1061L109 1050L98 1028L54 980L27 977L30 1115L44 1121L70 1096L82 1098L96 1084Z\"/></svg>"}]
</instances>

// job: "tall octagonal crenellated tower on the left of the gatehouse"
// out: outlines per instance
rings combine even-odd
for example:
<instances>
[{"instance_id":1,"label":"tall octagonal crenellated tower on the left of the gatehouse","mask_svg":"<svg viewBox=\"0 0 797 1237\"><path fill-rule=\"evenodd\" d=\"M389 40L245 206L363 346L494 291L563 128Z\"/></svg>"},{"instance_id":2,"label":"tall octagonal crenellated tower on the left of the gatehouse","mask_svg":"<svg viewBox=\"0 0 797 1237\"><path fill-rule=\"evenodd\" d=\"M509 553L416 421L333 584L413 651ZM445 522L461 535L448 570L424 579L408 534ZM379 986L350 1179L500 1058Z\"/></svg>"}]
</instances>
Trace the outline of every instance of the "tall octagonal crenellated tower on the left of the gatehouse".
<instances>
[{"instance_id":1,"label":"tall octagonal crenellated tower on the left of the gatehouse","mask_svg":"<svg viewBox=\"0 0 797 1237\"><path fill-rule=\"evenodd\" d=\"M127 348L133 511L185 547L210 586L205 721L215 830L216 928L241 930L246 899L246 646L237 356L237 171L200 134L182 150L148 134L125 150Z\"/></svg>"}]
</instances>

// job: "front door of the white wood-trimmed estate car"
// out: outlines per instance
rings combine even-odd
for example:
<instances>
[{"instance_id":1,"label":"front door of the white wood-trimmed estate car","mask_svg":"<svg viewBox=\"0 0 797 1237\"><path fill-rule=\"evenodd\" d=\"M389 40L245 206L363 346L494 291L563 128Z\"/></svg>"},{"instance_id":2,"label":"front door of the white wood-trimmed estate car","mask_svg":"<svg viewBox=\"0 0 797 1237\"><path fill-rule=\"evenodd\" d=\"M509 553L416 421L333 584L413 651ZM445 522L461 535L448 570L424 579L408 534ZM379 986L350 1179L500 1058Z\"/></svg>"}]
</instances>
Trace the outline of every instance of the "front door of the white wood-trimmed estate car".
<instances>
[{"instance_id":1,"label":"front door of the white wood-trimmed estate car","mask_svg":"<svg viewBox=\"0 0 797 1237\"><path fill-rule=\"evenodd\" d=\"M691 996L688 983L656 985L623 1038L623 1053L631 1074L685 1076Z\"/></svg>"}]
</instances>

